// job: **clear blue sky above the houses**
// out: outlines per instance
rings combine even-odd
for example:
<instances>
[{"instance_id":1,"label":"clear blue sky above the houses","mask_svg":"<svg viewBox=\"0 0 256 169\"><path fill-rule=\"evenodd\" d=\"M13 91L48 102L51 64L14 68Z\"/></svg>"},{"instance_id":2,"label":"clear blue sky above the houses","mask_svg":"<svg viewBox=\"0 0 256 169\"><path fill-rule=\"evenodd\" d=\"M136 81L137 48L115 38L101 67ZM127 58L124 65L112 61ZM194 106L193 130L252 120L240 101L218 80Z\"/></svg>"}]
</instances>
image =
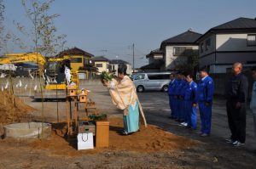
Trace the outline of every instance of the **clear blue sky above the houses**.
<instances>
[{"instance_id":1,"label":"clear blue sky above the houses","mask_svg":"<svg viewBox=\"0 0 256 169\"><path fill-rule=\"evenodd\" d=\"M30 26L20 0L4 3L8 30L14 30L13 20ZM160 42L189 28L205 33L238 17L255 18L256 1L55 0L50 12L61 14L55 25L60 34L67 34L67 48L82 48L109 59L118 56L132 63L131 45L135 43L139 67L148 63L145 54L160 48Z\"/></svg>"}]
</instances>

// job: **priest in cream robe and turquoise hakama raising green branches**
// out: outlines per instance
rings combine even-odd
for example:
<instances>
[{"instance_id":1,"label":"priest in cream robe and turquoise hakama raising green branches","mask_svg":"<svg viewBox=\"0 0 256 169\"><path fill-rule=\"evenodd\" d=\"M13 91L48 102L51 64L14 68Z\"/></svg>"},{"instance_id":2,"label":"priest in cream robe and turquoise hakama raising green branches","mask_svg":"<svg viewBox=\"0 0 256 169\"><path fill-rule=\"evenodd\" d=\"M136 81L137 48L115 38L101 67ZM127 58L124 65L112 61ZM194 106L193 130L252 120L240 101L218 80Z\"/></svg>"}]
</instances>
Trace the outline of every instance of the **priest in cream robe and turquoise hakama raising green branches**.
<instances>
[{"instance_id":1,"label":"priest in cream robe and turquoise hakama raising green branches","mask_svg":"<svg viewBox=\"0 0 256 169\"><path fill-rule=\"evenodd\" d=\"M102 83L108 87L113 104L118 109L124 110L123 121L124 130L123 135L130 135L139 130L140 116L143 119L145 127L147 122L143 113L142 105L137 97L136 87L131 78L126 74L127 65L119 64L118 77L114 79L107 72L102 72Z\"/></svg>"}]
</instances>

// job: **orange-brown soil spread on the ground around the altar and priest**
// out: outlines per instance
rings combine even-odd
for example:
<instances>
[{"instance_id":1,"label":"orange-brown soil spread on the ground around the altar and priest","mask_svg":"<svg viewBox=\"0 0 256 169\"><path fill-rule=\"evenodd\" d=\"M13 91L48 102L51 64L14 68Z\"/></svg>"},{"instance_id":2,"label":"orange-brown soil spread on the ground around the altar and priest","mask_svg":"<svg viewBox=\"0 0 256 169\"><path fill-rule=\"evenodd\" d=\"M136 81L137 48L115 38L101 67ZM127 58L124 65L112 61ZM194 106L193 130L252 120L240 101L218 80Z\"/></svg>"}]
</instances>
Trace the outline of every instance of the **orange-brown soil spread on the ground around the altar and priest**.
<instances>
[{"instance_id":1,"label":"orange-brown soil spread on the ground around the altar and priest","mask_svg":"<svg viewBox=\"0 0 256 169\"><path fill-rule=\"evenodd\" d=\"M172 151L177 149L189 149L197 143L188 138L183 138L166 132L159 127L148 125L141 127L140 132L128 136L119 135L118 131L123 127L122 119L111 118L109 133L109 148L77 150L77 141L66 140L66 123L53 124L52 137L49 140L37 140L30 144L32 149L46 149L55 155L84 155L96 154L110 150L130 150L135 152L152 153L157 151Z\"/></svg>"}]
</instances>

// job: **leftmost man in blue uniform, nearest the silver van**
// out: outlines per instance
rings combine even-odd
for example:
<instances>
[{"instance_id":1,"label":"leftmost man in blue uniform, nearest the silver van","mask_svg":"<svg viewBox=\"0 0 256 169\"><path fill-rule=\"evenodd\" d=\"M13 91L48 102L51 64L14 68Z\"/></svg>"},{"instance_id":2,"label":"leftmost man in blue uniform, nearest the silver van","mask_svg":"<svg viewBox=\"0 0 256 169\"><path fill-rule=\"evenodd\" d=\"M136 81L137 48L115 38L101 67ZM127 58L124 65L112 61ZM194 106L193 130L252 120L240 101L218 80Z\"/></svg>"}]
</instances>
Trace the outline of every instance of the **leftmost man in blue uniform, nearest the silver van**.
<instances>
[{"instance_id":1,"label":"leftmost man in blue uniform, nearest the silver van","mask_svg":"<svg viewBox=\"0 0 256 169\"><path fill-rule=\"evenodd\" d=\"M174 118L177 118L176 115L175 115L175 109L174 109L174 106L175 106L175 104L174 104L174 90L175 90L175 84L176 84L175 75L171 74L170 79L171 79L171 82L169 83L169 87L168 87L169 106L170 106L170 110L171 110L170 118L174 119Z\"/></svg>"}]
</instances>

